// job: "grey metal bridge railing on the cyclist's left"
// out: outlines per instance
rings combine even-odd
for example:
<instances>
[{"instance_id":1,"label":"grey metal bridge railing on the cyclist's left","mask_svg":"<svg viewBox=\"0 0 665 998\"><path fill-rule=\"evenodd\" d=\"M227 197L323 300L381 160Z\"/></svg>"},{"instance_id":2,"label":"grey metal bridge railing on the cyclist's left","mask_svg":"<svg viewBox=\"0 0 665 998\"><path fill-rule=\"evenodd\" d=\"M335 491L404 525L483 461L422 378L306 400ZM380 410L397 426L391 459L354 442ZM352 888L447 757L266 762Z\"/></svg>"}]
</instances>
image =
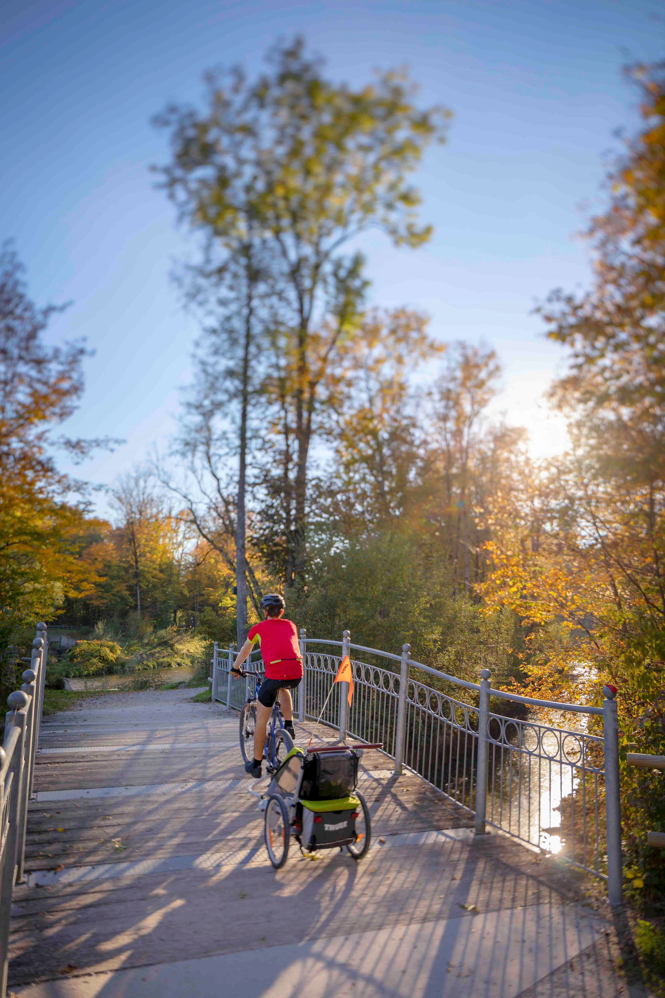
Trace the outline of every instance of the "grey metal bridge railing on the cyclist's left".
<instances>
[{"instance_id":1,"label":"grey metal bridge railing on the cyclist's left","mask_svg":"<svg viewBox=\"0 0 665 998\"><path fill-rule=\"evenodd\" d=\"M48 650L46 624L38 624L23 686L7 698L9 711L0 749L0 998L7 993L12 890L15 883L23 881L28 801L33 795Z\"/></svg>"}]
</instances>

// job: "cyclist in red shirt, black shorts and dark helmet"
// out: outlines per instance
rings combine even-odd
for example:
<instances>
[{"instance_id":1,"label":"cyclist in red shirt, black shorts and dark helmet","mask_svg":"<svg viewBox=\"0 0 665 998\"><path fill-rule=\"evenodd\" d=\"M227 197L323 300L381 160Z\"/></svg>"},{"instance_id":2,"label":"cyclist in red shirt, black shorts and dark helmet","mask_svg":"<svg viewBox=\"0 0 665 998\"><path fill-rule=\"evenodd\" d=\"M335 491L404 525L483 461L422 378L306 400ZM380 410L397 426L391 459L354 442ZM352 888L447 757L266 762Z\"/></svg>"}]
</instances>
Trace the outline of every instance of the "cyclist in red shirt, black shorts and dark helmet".
<instances>
[{"instance_id":1,"label":"cyclist in red shirt, black shorts and dark helmet","mask_svg":"<svg viewBox=\"0 0 665 998\"><path fill-rule=\"evenodd\" d=\"M265 620L249 629L247 640L238 652L231 673L240 675L240 666L252 650L255 642L261 649L265 666L265 679L258 691L256 705L256 726L254 728L254 758L245 762L245 770L255 779L261 775L261 761L265 746L265 732L275 700L279 697L279 707L284 717L284 728L291 738L293 731L293 702L289 691L294 690L302 679L302 658L298 645L298 632L292 621L283 619L285 603L277 593L269 593L260 603Z\"/></svg>"}]
</instances>

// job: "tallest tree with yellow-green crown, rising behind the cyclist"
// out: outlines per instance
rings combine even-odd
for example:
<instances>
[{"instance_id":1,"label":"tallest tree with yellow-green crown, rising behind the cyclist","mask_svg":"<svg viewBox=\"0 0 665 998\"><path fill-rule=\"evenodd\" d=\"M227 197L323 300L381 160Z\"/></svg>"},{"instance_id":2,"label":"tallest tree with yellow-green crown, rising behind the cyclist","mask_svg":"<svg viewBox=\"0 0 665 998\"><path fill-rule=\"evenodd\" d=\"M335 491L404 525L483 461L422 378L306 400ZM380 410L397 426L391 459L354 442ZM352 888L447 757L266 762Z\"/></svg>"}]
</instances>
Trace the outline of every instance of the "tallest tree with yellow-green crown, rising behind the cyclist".
<instances>
[{"instance_id":1,"label":"tallest tree with yellow-green crown, rising behind the cyclist","mask_svg":"<svg viewBox=\"0 0 665 998\"><path fill-rule=\"evenodd\" d=\"M370 227L396 245L430 237L407 184L423 150L443 139L446 113L420 110L404 73L358 90L334 85L302 40L276 46L270 70L208 74L207 107L171 106L164 186L181 219L218 248L257 240L282 313L288 431L295 438L287 585L304 580L307 466L327 358L351 335L365 291L360 253L343 248ZM252 235L253 234L253 235ZM279 395L275 399L278 401Z\"/></svg>"}]
</instances>

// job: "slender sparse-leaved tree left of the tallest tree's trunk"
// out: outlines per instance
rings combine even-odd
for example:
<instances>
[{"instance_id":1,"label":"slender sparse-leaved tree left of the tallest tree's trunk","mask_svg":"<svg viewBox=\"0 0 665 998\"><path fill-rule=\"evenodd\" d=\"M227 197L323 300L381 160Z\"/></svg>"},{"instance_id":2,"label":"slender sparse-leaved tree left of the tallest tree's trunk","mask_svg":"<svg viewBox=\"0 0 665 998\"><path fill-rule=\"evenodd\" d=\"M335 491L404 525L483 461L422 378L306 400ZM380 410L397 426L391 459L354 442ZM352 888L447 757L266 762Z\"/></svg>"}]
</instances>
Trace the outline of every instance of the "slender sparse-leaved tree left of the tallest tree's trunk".
<instances>
[{"instance_id":1,"label":"slender sparse-leaved tree left of the tallest tree's trunk","mask_svg":"<svg viewBox=\"0 0 665 998\"><path fill-rule=\"evenodd\" d=\"M256 426L254 409L264 370L261 347L266 345L266 314L261 278L266 268L251 227L246 237L229 236L225 249L217 258L211 245L205 259L187 266L180 276L185 300L195 307L203 328L195 343L194 381L173 452L184 457L190 478L196 482L193 491L181 482L177 488L186 496L190 521L208 543L214 543L212 537L221 528L224 543L218 550L235 571L240 647L247 636L247 587L255 608L262 595L246 556L245 493L248 439ZM163 469L159 474L172 489L171 476ZM212 502L211 494L215 494ZM219 502L221 516L215 510ZM216 530L210 530L210 516L217 522ZM235 547L233 556L229 542Z\"/></svg>"}]
</instances>

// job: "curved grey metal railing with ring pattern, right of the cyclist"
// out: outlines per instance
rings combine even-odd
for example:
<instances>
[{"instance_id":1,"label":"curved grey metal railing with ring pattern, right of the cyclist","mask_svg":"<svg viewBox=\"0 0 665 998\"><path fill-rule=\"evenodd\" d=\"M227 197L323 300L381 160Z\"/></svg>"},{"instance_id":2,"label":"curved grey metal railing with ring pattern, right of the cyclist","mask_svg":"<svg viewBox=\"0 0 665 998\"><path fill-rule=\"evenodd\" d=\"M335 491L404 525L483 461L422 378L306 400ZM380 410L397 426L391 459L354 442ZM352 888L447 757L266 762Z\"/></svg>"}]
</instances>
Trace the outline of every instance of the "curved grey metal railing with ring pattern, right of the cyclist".
<instances>
[{"instance_id":1,"label":"curved grey metal railing with ring pattern, right of the cyclist","mask_svg":"<svg viewBox=\"0 0 665 998\"><path fill-rule=\"evenodd\" d=\"M340 739L382 742L396 773L406 765L473 812L478 835L491 825L555 852L606 880L610 904L621 902L613 689L605 687L602 708L520 697L492 689L487 669L480 683L469 683L415 662L409 645L401 656L352 645L348 631L342 641L324 641L308 639L303 629L300 651L305 668L294 691L300 721L323 711L322 723L338 729ZM353 670L350 707L348 685L333 686L345 655ZM226 655L215 645L212 697L227 710L240 710L248 683L228 676L232 660L232 646ZM427 682L430 677L434 682ZM493 700L521 704L535 717L504 717L493 712ZM543 711L557 712L561 725L543 724L537 717ZM575 727L563 724L571 715Z\"/></svg>"}]
</instances>

